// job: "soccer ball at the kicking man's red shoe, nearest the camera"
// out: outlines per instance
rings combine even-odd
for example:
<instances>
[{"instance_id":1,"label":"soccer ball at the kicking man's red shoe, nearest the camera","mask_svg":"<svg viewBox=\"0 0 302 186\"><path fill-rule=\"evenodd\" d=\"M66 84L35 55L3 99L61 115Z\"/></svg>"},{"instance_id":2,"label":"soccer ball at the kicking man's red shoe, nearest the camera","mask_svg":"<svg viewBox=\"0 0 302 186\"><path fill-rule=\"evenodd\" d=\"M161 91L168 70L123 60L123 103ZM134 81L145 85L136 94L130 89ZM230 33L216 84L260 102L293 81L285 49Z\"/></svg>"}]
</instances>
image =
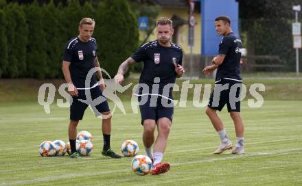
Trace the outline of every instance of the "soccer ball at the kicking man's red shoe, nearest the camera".
<instances>
[{"instance_id":1,"label":"soccer ball at the kicking man's red shoe, nearest the camera","mask_svg":"<svg viewBox=\"0 0 302 186\"><path fill-rule=\"evenodd\" d=\"M149 174L152 169L152 161L145 155L137 155L132 159L131 167L135 174L145 176L146 174Z\"/></svg>"}]
</instances>

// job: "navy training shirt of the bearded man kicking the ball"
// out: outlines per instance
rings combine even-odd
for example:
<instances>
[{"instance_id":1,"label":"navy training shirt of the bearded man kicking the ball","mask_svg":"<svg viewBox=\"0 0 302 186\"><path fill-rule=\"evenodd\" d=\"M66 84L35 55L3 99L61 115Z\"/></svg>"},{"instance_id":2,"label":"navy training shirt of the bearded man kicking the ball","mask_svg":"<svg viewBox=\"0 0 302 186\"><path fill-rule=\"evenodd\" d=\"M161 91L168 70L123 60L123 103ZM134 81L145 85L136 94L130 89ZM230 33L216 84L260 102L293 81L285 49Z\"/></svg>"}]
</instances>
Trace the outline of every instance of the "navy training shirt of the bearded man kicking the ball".
<instances>
[{"instance_id":1,"label":"navy training shirt of the bearded man kicking the ball","mask_svg":"<svg viewBox=\"0 0 302 186\"><path fill-rule=\"evenodd\" d=\"M143 62L139 83L146 83L152 87L154 78L159 77L159 94L165 85L175 83L176 72L173 62L179 65L183 63L181 47L174 43L171 43L170 47L163 47L157 40L143 44L131 57L135 62Z\"/></svg>"}]
</instances>

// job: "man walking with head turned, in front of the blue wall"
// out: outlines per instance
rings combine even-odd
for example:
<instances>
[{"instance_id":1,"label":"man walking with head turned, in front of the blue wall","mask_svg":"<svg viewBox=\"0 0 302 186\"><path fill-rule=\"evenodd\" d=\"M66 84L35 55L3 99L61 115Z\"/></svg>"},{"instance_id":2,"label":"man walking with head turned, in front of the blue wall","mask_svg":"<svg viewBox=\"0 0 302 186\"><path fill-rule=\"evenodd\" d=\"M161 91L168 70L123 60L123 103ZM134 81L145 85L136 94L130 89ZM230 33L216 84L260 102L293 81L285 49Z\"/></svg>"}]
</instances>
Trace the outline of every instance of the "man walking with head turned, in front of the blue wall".
<instances>
[{"instance_id":1,"label":"man walking with head turned, in front of the blue wall","mask_svg":"<svg viewBox=\"0 0 302 186\"><path fill-rule=\"evenodd\" d=\"M220 154L233 148L231 141L227 137L224 124L216 113L216 110L221 111L224 105L227 104L228 112L234 122L237 139L236 147L231 152L233 154L243 154L244 124L240 114L240 92L242 88L240 57L242 42L231 30L231 20L228 16L217 17L215 19L215 28L218 35L223 36L219 44L219 54L212 59L213 65L203 69L203 72L208 75L217 68L216 85L205 111L221 139L220 146L213 153Z\"/></svg>"}]
</instances>

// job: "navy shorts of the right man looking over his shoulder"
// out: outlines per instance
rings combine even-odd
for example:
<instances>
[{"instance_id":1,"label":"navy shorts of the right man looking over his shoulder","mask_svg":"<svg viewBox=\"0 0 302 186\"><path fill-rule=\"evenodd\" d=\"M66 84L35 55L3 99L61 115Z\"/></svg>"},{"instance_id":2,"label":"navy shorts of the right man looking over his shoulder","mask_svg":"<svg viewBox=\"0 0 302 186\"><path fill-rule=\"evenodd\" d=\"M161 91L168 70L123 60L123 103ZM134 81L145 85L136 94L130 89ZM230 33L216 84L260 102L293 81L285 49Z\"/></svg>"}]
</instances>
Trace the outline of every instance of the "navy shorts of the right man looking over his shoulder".
<instances>
[{"instance_id":1,"label":"navy shorts of the right man looking over his shoulder","mask_svg":"<svg viewBox=\"0 0 302 186\"><path fill-rule=\"evenodd\" d=\"M221 79L215 84L215 88L211 93L208 107L221 111L227 104L228 112L240 112L240 93L242 90L242 82L228 79Z\"/></svg>"}]
</instances>

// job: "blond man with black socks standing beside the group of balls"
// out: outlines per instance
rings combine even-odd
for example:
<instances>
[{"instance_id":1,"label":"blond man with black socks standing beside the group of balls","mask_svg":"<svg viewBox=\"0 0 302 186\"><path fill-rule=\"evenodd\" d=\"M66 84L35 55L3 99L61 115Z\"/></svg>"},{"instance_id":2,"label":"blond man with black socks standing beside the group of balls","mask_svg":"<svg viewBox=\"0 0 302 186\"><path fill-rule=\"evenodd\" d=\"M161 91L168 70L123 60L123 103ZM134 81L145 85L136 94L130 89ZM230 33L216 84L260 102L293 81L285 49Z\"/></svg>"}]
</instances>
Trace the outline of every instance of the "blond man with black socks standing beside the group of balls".
<instances>
[{"instance_id":1,"label":"blond man with black socks standing beside the group of balls","mask_svg":"<svg viewBox=\"0 0 302 186\"><path fill-rule=\"evenodd\" d=\"M67 42L62 62L62 70L66 82L68 83L69 94L72 96L72 104L70 106L70 123L69 123L69 142L71 146L71 158L78 158L78 153L75 148L75 140L77 135L77 126L79 120L82 120L84 111L88 107L86 103L82 103L79 99L86 100L85 90L91 95L94 100L102 95L102 90L105 88L102 72L97 70L97 76L100 79L100 85L97 82L95 74L91 77L90 85L85 85L85 79L89 70L92 68L100 68L97 60L97 44L94 38L91 38L95 27L95 21L91 18L82 18L79 25L78 37L72 38ZM91 105L91 104L90 104ZM111 111L108 103L104 100L99 105L93 107L95 116L103 116L102 133L104 138L104 147L102 155L120 158L110 146L111 135Z\"/></svg>"}]
</instances>

